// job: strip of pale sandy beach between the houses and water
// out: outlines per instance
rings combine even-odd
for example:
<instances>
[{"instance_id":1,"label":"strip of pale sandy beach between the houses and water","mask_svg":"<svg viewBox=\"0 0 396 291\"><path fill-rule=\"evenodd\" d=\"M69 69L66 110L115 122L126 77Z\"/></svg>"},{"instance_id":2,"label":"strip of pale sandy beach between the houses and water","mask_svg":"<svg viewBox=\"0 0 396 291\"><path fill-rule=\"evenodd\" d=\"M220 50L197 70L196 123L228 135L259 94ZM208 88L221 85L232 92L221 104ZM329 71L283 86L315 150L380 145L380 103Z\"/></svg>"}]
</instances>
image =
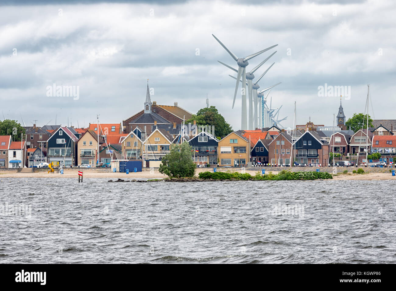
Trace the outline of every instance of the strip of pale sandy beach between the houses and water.
<instances>
[{"instance_id":1,"label":"strip of pale sandy beach between the houses and water","mask_svg":"<svg viewBox=\"0 0 396 291\"><path fill-rule=\"evenodd\" d=\"M161 174L158 169L150 170L143 169L141 172L130 172L129 174L120 173L120 172L105 172L103 169L81 169L81 168L73 168L73 169L64 169L63 174L57 173L47 173L46 171L38 171L36 173L17 173L17 171L0 171L0 181L3 178L75 178L78 179L78 170L83 171L84 178L100 178L100 179L112 179L114 181L117 179L161 179L168 178L168 176ZM196 175L198 173L205 171L213 171L211 168L197 168ZM241 172L242 169L217 169L219 172L227 172L227 171L237 171ZM248 170L246 171L250 174L253 174L255 171ZM277 174L279 171L272 171L272 173ZM268 173L266 171L266 173ZM392 173L364 173L364 174L343 174L338 173L338 175L333 176L333 179L328 180L366 180L366 181L375 181L375 180L396 180L396 176L392 176ZM302 180L307 181L307 180ZM310 180L315 181L315 180Z\"/></svg>"}]
</instances>

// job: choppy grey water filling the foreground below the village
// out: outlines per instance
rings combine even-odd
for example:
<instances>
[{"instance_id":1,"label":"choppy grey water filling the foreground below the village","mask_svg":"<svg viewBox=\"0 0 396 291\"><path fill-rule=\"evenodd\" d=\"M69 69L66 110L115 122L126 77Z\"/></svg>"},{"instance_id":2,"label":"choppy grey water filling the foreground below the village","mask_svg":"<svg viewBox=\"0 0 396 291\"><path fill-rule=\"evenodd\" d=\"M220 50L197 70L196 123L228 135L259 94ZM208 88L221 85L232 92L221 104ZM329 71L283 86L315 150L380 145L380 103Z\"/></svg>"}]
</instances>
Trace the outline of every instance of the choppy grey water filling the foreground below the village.
<instances>
[{"instance_id":1,"label":"choppy grey water filling the foreground below the village","mask_svg":"<svg viewBox=\"0 0 396 291\"><path fill-rule=\"evenodd\" d=\"M2 179L1 263L396 262L394 181L76 182Z\"/></svg>"}]
</instances>

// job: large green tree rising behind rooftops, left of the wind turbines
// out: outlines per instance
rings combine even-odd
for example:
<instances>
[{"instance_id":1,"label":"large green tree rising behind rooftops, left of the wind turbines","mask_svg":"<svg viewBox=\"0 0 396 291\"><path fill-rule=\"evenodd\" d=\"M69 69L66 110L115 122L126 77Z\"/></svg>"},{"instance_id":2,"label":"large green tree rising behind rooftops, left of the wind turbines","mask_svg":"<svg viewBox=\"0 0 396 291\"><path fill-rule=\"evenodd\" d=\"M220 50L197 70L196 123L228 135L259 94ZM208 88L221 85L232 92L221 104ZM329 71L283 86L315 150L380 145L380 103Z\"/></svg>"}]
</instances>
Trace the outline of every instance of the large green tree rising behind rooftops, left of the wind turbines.
<instances>
[{"instance_id":1,"label":"large green tree rising behind rooftops, left of the wind turbines","mask_svg":"<svg viewBox=\"0 0 396 291\"><path fill-rule=\"evenodd\" d=\"M197 114L192 114L186 123L193 123L196 120L197 125L214 126L215 136L224 137L232 132L232 127L228 124L224 117L219 113L216 107L205 107L198 110Z\"/></svg>"}]
</instances>

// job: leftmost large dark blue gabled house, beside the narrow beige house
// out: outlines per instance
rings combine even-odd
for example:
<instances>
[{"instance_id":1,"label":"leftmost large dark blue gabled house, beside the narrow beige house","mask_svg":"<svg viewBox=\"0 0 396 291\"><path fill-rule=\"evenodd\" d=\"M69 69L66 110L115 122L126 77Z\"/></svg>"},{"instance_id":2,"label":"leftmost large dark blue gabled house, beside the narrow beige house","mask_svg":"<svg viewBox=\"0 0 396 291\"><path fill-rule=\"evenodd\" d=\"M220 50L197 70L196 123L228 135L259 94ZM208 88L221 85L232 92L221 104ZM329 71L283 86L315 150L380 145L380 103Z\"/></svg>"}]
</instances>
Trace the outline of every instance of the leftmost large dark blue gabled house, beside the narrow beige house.
<instances>
[{"instance_id":1,"label":"leftmost large dark blue gabled house, beside the narrow beige house","mask_svg":"<svg viewBox=\"0 0 396 291\"><path fill-rule=\"evenodd\" d=\"M48 162L59 162L64 167L76 165L78 138L67 127L59 127L47 141Z\"/></svg>"}]
</instances>

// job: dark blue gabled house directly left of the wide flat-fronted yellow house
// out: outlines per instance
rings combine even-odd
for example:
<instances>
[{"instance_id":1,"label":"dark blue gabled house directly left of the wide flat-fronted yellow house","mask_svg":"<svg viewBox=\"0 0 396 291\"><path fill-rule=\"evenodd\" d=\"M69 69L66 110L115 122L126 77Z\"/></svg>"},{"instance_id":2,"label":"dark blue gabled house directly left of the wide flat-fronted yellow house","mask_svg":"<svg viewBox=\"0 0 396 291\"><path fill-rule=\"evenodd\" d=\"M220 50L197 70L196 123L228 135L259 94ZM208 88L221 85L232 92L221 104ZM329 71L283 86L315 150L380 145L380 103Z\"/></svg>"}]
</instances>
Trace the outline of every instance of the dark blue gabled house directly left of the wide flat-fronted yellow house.
<instances>
[{"instance_id":1,"label":"dark blue gabled house directly left of the wide flat-fronted yellow house","mask_svg":"<svg viewBox=\"0 0 396 291\"><path fill-rule=\"evenodd\" d=\"M206 131L198 133L188 143L192 146L192 160L198 165L217 164L218 140Z\"/></svg>"}]
</instances>

